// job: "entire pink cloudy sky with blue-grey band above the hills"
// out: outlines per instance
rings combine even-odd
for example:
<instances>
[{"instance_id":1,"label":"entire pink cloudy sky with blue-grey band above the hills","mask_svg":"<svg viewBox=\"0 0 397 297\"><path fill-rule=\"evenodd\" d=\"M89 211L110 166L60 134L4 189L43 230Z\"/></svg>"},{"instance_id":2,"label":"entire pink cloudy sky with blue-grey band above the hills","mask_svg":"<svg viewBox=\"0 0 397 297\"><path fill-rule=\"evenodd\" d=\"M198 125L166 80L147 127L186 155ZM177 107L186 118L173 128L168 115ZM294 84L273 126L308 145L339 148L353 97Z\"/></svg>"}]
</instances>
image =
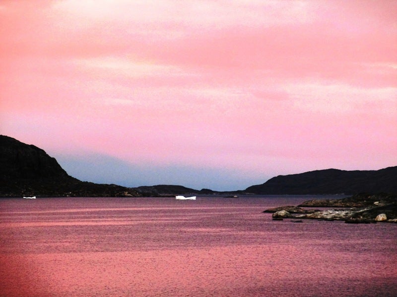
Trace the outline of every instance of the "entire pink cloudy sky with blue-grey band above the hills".
<instances>
[{"instance_id":1,"label":"entire pink cloudy sky with blue-grey band above the hills","mask_svg":"<svg viewBox=\"0 0 397 297\"><path fill-rule=\"evenodd\" d=\"M0 133L82 180L396 166L397 1L2 0L0 86Z\"/></svg>"}]
</instances>

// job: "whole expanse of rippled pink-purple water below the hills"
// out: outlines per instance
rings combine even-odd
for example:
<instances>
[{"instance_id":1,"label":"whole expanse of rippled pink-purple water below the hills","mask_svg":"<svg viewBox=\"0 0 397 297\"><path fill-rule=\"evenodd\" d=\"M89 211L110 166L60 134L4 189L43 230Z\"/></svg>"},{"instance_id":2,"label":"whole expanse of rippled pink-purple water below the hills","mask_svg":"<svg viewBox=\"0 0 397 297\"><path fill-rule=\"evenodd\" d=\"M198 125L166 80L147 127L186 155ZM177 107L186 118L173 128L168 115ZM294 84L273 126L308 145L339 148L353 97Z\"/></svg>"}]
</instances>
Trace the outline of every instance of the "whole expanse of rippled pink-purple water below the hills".
<instances>
[{"instance_id":1,"label":"whole expanse of rippled pink-purple water below the hills","mask_svg":"<svg viewBox=\"0 0 397 297\"><path fill-rule=\"evenodd\" d=\"M0 296L397 296L397 224L262 213L310 198L0 199Z\"/></svg>"}]
</instances>

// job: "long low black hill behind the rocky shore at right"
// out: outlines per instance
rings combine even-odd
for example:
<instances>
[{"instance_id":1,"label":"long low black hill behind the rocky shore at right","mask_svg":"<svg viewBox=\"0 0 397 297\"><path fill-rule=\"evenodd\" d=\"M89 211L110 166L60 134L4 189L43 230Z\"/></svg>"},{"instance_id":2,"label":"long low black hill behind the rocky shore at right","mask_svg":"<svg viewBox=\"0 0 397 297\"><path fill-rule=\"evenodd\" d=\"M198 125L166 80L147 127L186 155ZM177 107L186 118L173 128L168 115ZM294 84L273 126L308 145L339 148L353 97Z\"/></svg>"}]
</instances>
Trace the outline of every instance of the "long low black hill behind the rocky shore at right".
<instances>
[{"instance_id":1,"label":"long low black hill behind the rocky shore at right","mask_svg":"<svg viewBox=\"0 0 397 297\"><path fill-rule=\"evenodd\" d=\"M397 166L368 171L326 169L279 175L245 192L261 195L397 193Z\"/></svg>"}]
</instances>

